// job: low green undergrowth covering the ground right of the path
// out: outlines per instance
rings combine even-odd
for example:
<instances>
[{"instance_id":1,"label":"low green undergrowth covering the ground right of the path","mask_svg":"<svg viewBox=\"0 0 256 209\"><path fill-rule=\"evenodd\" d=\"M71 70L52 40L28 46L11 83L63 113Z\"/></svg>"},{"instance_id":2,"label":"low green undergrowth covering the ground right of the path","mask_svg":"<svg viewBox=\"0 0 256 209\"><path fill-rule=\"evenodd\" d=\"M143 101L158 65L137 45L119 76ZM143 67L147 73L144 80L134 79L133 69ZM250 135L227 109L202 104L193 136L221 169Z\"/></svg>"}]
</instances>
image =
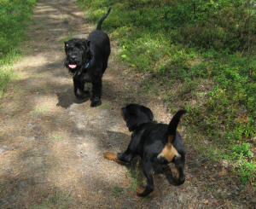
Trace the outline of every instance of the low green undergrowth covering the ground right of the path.
<instances>
[{"instance_id":1,"label":"low green undergrowth covering the ground right of the path","mask_svg":"<svg viewBox=\"0 0 256 209\"><path fill-rule=\"evenodd\" d=\"M121 60L147 74L144 89L164 94L172 113L185 107L193 143L228 160L241 183L253 183L256 134L256 14L252 1L78 0L104 21ZM193 141L194 139L191 139ZM255 151L255 150L254 150Z\"/></svg>"}]
</instances>

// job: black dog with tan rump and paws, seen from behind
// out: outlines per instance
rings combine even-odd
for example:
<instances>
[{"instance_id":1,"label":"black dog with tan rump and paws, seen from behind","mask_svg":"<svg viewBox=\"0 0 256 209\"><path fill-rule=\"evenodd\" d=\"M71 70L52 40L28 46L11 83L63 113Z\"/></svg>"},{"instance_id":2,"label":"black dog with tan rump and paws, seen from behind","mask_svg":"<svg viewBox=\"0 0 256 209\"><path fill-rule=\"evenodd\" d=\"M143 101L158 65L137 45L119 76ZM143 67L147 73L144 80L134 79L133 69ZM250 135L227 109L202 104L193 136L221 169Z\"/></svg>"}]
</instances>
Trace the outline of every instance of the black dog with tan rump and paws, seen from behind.
<instances>
[{"instance_id":1,"label":"black dog with tan rump and paws, seen from behind","mask_svg":"<svg viewBox=\"0 0 256 209\"><path fill-rule=\"evenodd\" d=\"M124 153L105 153L104 157L116 162L131 162L139 155L143 160L143 173L147 177L147 186L137 192L146 196L154 190L154 165L174 163L178 171L177 185L184 183L185 150L184 143L177 130L178 122L185 110L179 110L169 125L153 121L153 113L148 107L130 104L121 109L129 131L131 142Z\"/></svg>"}]
</instances>

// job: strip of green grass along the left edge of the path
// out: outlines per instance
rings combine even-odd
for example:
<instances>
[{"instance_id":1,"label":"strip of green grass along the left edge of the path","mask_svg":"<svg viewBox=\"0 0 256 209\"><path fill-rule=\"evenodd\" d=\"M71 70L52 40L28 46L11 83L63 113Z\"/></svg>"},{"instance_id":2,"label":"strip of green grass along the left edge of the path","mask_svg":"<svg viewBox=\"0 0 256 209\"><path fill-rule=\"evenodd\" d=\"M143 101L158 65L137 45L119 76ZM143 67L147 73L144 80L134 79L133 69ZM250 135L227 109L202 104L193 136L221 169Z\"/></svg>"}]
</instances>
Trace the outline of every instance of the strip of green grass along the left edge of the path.
<instances>
[{"instance_id":1,"label":"strip of green grass along the left edge of the path","mask_svg":"<svg viewBox=\"0 0 256 209\"><path fill-rule=\"evenodd\" d=\"M12 64L20 57L27 23L36 0L0 0L0 96L12 78Z\"/></svg>"}]
</instances>

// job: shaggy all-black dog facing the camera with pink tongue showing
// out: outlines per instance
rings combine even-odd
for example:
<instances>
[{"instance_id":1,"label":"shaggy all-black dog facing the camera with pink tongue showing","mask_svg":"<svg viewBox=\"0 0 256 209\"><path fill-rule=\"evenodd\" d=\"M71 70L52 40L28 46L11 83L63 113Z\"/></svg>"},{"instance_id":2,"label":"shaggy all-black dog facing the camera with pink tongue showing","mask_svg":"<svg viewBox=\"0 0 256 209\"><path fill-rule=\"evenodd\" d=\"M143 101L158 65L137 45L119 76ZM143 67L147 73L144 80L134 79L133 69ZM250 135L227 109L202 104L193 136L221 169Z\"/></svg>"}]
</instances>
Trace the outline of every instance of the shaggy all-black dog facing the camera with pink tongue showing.
<instances>
[{"instance_id":1,"label":"shaggy all-black dog facing the camera with pink tongue showing","mask_svg":"<svg viewBox=\"0 0 256 209\"><path fill-rule=\"evenodd\" d=\"M110 42L108 35L102 32L102 22L109 13L102 17L96 30L91 32L89 38L73 38L65 42L66 59L65 67L73 74L74 94L79 99L90 96L84 90L85 82L92 83L92 96L90 107L102 104L102 75L108 67L110 55Z\"/></svg>"}]
</instances>

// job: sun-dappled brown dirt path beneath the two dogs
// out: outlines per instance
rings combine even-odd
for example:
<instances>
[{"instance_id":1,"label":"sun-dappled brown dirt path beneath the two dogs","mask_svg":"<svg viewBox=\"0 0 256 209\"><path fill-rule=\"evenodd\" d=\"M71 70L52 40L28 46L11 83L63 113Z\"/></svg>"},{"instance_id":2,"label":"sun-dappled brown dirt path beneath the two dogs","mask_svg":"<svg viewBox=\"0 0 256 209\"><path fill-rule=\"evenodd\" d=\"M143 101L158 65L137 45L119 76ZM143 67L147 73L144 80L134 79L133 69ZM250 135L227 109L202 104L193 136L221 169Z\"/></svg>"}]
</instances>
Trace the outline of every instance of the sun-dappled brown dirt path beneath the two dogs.
<instances>
[{"instance_id":1,"label":"sun-dappled brown dirt path beneath the two dogs","mask_svg":"<svg viewBox=\"0 0 256 209\"><path fill-rule=\"evenodd\" d=\"M154 96L137 95L140 80L114 60L114 44L102 106L75 99L61 39L95 26L74 2L38 1L26 57L15 64L18 77L0 104L0 208L247 208L246 199L236 201L238 189L216 185L212 171L221 168L205 165L189 145L186 182L175 187L155 175L154 193L143 199L136 196L143 178L136 162L103 159L103 152L124 150L130 140L119 116L125 103L150 107L161 122L171 115ZM229 177L222 181L232 184Z\"/></svg>"}]
</instances>

